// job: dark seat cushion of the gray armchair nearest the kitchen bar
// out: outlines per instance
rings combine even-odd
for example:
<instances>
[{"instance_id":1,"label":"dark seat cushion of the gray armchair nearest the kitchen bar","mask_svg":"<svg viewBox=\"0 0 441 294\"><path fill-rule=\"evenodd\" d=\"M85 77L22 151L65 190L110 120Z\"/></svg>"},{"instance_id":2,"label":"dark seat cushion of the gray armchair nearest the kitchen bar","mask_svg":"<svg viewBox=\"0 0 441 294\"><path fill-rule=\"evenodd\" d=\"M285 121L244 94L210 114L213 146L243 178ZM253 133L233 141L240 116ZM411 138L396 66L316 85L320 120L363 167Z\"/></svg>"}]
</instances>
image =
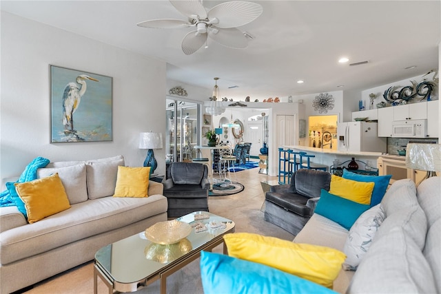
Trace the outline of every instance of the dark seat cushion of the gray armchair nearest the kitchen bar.
<instances>
[{"instance_id":1,"label":"dark seat cushion of the gray armchair nearest the kitchen bar","mask_svg":"<svg viewBox=\"0 0 441 294\"><path fill-rule=\"evenodd\" d=\"M292 211L299 216L311 216L311 209L307 207L309 197L298 193L274 193L267 192L265 199L277 204L284 209Z\"/></svg>"}]
</instances>

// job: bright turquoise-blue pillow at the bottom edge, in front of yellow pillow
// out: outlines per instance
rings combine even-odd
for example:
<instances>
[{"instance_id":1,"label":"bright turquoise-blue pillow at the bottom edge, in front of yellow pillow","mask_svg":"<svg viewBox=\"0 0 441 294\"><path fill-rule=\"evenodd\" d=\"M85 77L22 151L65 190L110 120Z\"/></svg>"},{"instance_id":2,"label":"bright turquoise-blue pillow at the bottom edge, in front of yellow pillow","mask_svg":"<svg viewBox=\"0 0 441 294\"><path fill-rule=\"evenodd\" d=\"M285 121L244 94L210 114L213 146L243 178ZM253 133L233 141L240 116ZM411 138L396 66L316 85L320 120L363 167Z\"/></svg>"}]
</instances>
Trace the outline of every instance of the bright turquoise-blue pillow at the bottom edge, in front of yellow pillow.
<instances>
[{"instance_id":1,"label":"bright turquoise-blue pillow at the bottom edge, in front of yellow pillow","mask_svg":"<svg viewBox=\"0 0 441 294\"><path fill-rule=\"evenodd\" d=\"M206 251L201 251L201 279L205 294L336 293L271 266Z\"/></svg>"}]
</instances>

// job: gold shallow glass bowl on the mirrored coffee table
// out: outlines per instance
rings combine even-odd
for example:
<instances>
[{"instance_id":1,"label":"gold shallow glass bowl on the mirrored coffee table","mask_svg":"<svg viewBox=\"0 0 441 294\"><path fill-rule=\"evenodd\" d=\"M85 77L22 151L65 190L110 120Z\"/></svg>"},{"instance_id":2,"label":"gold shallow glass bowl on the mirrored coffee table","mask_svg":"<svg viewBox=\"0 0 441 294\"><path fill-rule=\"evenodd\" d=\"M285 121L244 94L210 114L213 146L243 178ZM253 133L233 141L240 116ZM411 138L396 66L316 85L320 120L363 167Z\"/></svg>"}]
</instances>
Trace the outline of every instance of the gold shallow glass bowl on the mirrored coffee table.
<instances>
[{"instance_id":1,"label":"gold shallow glass bowl on the mirrored coffee table","mask_svg":"<svg viewBox=\"0 0 441 294\"><path fill-rule=\"evenodd\" d=\"M145 238L156 244L174 244L186 238L192 232L192 227L187 222L168 220L156 222L145 230Z\"/></svg>"}]
</instances>

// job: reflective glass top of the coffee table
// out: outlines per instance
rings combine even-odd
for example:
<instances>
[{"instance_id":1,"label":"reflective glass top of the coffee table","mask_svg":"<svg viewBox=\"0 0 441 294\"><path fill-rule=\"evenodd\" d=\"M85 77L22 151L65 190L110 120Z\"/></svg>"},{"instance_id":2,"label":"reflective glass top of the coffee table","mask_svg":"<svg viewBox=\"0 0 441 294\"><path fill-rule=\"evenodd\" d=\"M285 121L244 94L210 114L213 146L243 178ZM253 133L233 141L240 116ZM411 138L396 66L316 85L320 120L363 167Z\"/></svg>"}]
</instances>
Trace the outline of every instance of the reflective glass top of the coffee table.
<instances>
[{"instance_id":1,"label":"reflective glass top of the coffee table","mask_svg":"<svg viewBox=\"0 0 441 294\"><path fill-rule=\"evenodd\" d=\"M235 224L232 220L205 211L203 213L207 213L209 219L194 220L197 213L201 212L189 213L176 220L190 225L201 222L207 227L206 231L196 233L192 228L187 238L170 245L150 242L145 238L143 231L99 249L95 254L95 262L107 272L106 275L110 275L112 280L119 283L128 284L146 278L149 280L174 263L185 260L186 255L197 253L201 247L220 235L234 231ZM210 222L220 222L226 227L210 229Z\"/></svg>"}]
</instances>

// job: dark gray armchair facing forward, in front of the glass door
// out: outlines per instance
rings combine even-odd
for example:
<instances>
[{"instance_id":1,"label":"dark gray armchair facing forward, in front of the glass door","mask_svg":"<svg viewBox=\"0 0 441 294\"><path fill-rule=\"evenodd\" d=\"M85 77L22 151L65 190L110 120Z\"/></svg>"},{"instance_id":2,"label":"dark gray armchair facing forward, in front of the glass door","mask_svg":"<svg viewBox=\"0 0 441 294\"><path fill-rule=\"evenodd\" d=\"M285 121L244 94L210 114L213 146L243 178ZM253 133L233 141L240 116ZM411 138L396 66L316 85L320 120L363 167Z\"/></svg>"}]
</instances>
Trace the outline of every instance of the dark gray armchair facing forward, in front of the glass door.
<instances>
[{"instance_id":1,"label":"dark gray armchair facing forward, in front of the glass door","mask_svg":"<svg viewBox=\"0 0 441 294\"><path fill-rule=\"evenodd\" d=\"M173 162L167 167L164 196L168 217L178 218L194 211L208 211L208 168L196 162Z\"/></svg>"}]
</instances>

